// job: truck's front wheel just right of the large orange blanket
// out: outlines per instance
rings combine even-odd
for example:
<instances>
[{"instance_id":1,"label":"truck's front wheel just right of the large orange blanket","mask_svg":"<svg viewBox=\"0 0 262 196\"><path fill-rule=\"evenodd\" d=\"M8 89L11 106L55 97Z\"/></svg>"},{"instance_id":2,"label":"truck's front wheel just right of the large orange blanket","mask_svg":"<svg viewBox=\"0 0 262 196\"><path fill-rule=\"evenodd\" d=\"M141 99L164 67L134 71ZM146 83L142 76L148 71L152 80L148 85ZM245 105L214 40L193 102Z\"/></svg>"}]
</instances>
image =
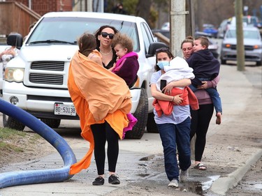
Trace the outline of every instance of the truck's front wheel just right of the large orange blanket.
<instances>
[{"instance_id":1,"label":"truck's front wheel just right of the large orange blanket","mask_svg":"<svg viewBox=\"0 0 262 196\"><path fill-rule=\"evenodd\" d=\"M145 89L141 89L138 107L133 116L138 119L136 126L132 130L126 132L126 139L141 139L145 133L145 126L147 125L147 113L148 113L148 99Z\"/></svg>"}]
</instances>

